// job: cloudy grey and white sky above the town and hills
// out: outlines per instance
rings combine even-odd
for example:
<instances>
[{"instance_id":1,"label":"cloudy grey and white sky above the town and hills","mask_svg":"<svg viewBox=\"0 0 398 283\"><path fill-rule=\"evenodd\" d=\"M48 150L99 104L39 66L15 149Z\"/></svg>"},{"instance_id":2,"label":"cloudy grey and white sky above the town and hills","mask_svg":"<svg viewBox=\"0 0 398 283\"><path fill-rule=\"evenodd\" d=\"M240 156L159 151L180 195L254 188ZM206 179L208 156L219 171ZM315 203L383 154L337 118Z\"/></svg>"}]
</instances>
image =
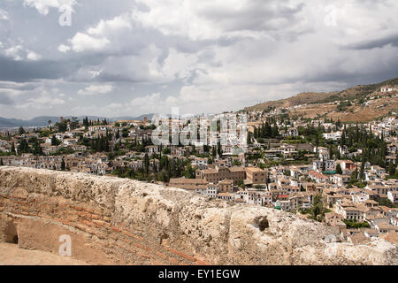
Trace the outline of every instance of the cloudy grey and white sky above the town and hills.
<instances>
[{"instance_id":1,"label":"cloudy grey and white sky above the town and hills","mask_svg":"<svg viewBox=\"0 0 398 283\"><path fill-rule=\"evenodd\" d=\"M0 117L236 111L398 77L396 0L1 0Z\"/></svg>"}]
</instances>

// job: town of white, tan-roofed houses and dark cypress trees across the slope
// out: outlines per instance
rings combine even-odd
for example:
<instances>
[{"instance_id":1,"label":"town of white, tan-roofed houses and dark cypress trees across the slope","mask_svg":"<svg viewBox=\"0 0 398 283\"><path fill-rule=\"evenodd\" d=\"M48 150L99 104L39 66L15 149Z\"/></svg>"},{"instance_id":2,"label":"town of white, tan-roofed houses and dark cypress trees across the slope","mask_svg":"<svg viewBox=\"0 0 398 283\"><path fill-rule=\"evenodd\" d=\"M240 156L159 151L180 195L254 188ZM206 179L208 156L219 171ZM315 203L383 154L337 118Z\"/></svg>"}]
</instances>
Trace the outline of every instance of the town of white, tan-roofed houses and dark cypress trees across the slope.
<instances>
[{"instance_id":1,"label":"town of white, tan-roofed houses and dark cypress trees across the slope","mask_svg":"<svg viewBox=\"0 0 398 283\"><path fill-rule=\"evenodd\" d=\"M61 118L44 127L0 130L0 165L165 184L210 199L296 213L341 228L350 241L397 242L397 112L343 123L291 111L240 111L248 117L243 146L221 144L219 126L218 142L156 145L153 119ZM186 122L169 119L170 133L172 124L178 134L184 132ZM206 141L211 138L202 133Z\"/></svg>"}]
</instances>

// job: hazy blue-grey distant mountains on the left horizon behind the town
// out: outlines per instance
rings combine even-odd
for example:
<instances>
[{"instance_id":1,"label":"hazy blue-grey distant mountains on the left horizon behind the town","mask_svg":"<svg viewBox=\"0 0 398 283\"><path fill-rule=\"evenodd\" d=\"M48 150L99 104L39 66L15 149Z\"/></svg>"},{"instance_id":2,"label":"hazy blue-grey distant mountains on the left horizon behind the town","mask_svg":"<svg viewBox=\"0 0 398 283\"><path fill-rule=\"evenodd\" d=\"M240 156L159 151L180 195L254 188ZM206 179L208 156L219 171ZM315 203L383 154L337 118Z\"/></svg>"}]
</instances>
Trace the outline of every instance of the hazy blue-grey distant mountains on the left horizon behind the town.
<instances>
[{"instance_id":1,"label":"hazy blue-grey distant mountains on the left horizon behind the town","mask_svg":"<svg viewBox=\"0 0 398 283\"><path fill-rule=\"evenodd\" d=\"M98 117L98 116L80 116L78 119L81 121L88 117L88 119L96 120L96 119L107 119L109 121L116 121L116 120L142 120L144 117L151 119L153 114L145 114L138 117L133 116L122 116L122 117L115 117L115 118L107 118L107 117ZM72 116L65 116L65 119L72 119ZM49 121L52 124L55 124L60 121L60 117L55 116L40 116L35 117L34 119L30 120L22 120L22 119L6 119L0 117L0 128L5 127L19 127L19 126L48 126Z\"/></svg>"}]
</instances>

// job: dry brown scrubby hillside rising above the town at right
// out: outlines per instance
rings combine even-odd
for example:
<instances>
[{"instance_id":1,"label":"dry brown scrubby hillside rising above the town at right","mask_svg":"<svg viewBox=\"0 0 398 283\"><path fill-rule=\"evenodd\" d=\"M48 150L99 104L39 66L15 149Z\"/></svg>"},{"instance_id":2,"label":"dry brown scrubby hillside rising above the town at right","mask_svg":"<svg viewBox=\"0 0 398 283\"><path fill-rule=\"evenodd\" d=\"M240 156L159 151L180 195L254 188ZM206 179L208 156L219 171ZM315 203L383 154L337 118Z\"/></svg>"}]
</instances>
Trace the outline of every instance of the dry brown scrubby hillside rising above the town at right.
<instances>
[{"instance_id":1,"label":"dry brown scrubby hillside rising above the town at right","mask_svg":"<svg viewBox=\"0 0 398 283\"><path fill-rule=\"evenodd\" d=\"M246 107L244 111L268 111L272 107L293 107L302 104L308 104L295 111L292 114L302 115L304 118L314 118L318 115L327 115L329 118L340 118L345 121L365 121L376 119L387 115L390 111L398 110L398 101L392 98L391 94L380 93L381 87L386 85L398 85L398 78L385 80L377 84L356 86L340 92L329 93L302 93L278 101L259 103L251 107ZM379 99L364 104L370 95L379 96ZM348 100L353 103L345 111L339 111L337 104ZM355 107L359 106L359 107Z\"/></svg>"}]
</instances>

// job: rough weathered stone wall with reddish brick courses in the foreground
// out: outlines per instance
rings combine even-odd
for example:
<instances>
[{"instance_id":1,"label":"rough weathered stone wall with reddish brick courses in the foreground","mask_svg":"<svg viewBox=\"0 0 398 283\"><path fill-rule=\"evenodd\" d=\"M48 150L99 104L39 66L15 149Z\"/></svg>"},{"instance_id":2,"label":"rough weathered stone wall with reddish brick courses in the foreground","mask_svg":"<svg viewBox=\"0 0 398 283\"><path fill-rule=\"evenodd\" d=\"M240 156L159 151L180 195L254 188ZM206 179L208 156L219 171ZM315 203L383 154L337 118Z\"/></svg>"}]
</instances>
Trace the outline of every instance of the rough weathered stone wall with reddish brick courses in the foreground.
<instances>
[{"instance_id":1,"label":"rough weathered stone wall with reddish brick courses in the foreground","mask_svg":"<svg viewBox=\"0 0 398 283\"><path fill-rule=\"evenodd\" d=\"M398 264L385 240L343 242L294 214L82 173L0 167L0 241L90 264ZM17 238L16 238L17 236Z\"/></svg>"}]
</instances>

